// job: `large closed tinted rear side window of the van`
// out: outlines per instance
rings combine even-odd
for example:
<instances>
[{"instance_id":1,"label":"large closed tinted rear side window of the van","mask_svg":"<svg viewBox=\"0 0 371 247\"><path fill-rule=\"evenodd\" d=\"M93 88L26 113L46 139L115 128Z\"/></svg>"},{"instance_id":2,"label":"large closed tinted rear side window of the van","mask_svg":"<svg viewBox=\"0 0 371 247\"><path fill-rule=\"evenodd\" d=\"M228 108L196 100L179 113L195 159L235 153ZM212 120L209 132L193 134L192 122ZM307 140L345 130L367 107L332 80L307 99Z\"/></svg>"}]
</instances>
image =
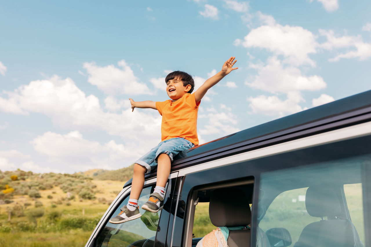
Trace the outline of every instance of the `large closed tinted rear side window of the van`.
<instances>
[{"instance_id":1,"label":"large closed tinted rear side window of the van","mask_svg":"<svg viewBox=\"0 0 371 247\"><path fill-rule=\"evenodd\" d=\"M258 222L271 246L363 246L366 166L354 157L262 173Z\"/></svg>"}]
</instances>

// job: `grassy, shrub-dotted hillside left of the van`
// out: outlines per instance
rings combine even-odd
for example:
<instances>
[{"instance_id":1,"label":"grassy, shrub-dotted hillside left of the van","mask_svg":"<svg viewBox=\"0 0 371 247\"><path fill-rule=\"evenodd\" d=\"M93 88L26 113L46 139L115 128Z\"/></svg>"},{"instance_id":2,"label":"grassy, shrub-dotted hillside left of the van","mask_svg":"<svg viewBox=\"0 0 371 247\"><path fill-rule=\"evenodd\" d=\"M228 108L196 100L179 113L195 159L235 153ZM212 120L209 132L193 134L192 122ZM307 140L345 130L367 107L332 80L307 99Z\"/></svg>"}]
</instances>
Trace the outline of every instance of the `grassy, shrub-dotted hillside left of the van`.
<instances>
[{"instance_id":1,"label":"grassy, shrub-dotted hillside left of the van","mask_svg":"<svg viewBox=\"0 0 371 247\"><path fill-rule=\"evenodd\" d=\"M0 246L84 246L130 170L0 171Z\"/></svg>"}]
</instances>

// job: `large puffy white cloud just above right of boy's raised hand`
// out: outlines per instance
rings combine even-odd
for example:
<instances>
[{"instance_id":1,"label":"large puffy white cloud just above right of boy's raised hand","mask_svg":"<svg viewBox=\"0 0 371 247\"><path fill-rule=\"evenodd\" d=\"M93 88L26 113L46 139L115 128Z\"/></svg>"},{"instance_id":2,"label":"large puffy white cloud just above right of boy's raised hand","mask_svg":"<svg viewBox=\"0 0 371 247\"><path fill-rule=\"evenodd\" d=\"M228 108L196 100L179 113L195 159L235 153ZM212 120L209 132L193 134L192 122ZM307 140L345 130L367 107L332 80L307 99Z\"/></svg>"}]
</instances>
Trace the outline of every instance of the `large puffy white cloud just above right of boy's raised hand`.
<instances>
[{"instance_id":1,"label":"large puffy white cloud just above right of boy's raised hand","mask_svg":"<svg viewBox=\"0 0 371 247\"><path fill-rule=\"evenodd\" d=\"M309 58L309 54L317 52L318 43L311 31L299 26L275 24L273 17L263 14L261 18L265 19L269 25L252 29L243 41L237 39L234 44L269 50L276 56L285 57L285 63L296 66L309 64L315 67L315 62Z\"/></svg>"}]
</instances>

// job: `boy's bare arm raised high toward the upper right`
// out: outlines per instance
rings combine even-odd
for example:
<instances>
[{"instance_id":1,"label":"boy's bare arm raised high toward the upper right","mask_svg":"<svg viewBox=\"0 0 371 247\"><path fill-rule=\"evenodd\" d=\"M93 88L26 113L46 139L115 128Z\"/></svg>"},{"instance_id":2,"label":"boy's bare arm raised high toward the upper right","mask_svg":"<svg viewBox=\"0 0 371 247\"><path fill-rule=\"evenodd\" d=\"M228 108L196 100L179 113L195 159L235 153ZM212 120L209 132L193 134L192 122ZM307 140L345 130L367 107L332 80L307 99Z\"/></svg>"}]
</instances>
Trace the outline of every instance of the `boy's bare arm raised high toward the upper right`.
<instances>
[{"instance_id":1,"label":"boy's bare arm raised high toward the upper right","mask_svg":"<svg viewBox=\"0 0 371 247\"><path fill-rule=\"evenodd\" d=\"M232 70L238 69L238 67L233 68L233 65L237 62L237 60L234 60L235 57L230 57L223 66L221 67L221 70L215 75L207 79L204 84L200 88L197 89L197 91L194 93L194 97L196 98L196 103L200 102L202 97L206 94L207 90L209 90L212 86L217 84L221 79L223 79L224 76L229 74Z\"/></svg>"}]
</instances>

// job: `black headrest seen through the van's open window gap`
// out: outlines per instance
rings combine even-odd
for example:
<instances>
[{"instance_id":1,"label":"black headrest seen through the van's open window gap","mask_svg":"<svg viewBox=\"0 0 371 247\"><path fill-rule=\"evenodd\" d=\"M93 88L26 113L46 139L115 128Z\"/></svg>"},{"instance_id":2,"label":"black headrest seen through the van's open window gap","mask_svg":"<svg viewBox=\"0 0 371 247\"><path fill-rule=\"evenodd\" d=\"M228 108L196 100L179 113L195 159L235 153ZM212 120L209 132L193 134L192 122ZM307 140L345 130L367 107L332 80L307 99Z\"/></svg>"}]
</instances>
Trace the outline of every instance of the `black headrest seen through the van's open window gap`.
<instances>
[{"instance_id":1,"label":"black headrest seen through the van's open window gap","mask_svg":"<svg viewBox=\"0 0 371 247\"><path fill-rule=\"evenodd\" d=\"M209 215L214 226L246 226L250 224L249 202L240 189L220 188L211 193Z\"/></svg>"}]
</instances>

